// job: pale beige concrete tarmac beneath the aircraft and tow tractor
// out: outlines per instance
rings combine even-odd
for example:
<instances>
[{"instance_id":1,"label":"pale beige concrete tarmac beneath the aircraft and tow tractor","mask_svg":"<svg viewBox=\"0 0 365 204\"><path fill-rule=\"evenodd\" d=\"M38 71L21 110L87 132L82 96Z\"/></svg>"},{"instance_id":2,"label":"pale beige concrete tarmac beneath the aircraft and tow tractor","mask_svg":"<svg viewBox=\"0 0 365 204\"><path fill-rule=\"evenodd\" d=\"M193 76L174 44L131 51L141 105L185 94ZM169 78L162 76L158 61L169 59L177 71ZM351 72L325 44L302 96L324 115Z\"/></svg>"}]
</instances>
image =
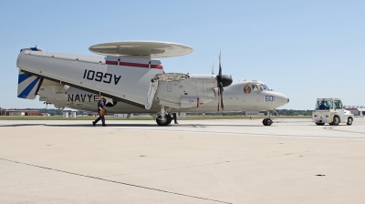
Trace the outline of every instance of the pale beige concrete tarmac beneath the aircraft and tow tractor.
<instances>
[{"instance_id":1,"label":"pale beige concrete tarmac beneath the aircraft and tow tractor","mask_svg":"<svg viewBox=\"0 0 365 204\"><path fill-rule=\"evenodd\" d=\"M365 118L0 121L0 203L365 203Z\"/></svg>"}]
</instances>

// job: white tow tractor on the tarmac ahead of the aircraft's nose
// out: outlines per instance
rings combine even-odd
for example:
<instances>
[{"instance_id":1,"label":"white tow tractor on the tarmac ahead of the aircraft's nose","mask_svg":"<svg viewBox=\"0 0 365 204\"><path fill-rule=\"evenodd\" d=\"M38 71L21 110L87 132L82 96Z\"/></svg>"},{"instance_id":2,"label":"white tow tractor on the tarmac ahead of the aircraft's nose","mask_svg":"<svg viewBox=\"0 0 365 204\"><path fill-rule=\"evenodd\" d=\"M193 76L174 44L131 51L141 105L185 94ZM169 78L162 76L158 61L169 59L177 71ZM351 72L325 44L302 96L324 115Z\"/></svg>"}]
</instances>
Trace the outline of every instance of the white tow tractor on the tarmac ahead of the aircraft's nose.
<instances>
[{"instance_id":1,"label":"white tow tractor on the tarmac ahead of the aircraft's nose","mask_svg":"<svg viewBox=\"0 0 365 204\"><path fill-rule=\"evenodd\" d=\"M318 126L328 123L331 126L338 126L339 123L352 125L353 114L345 110L339 98L317 98L316 109L312 113L313 122Z\"/></svg>"}]
</instances>

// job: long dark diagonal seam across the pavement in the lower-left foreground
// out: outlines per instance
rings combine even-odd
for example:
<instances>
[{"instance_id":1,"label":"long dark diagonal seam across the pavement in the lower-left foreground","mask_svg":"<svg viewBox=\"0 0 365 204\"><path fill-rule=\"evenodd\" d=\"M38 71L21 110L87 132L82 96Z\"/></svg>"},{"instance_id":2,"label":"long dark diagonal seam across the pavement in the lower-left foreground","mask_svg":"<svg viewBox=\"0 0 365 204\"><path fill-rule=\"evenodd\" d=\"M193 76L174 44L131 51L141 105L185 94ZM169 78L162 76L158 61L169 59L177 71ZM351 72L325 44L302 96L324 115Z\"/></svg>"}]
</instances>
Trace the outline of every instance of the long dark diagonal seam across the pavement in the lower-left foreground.
<instances>
[{"instance_id":1,"label":"long dark diagonal seam across the pavement in the lower-left foreground","mask_svg":"<svg viewBox=\"0 0 365 204\"><path fill-rule=\"evenodd\" d=\"M176 193L176 192L163 190L163 189L153 189L153 188L143 187L143 186L134 185L134 184L130 184L130 183L124 183L124 182L120 182L120 181L116 181L116 180L102 179L102 178L98 178L98 177L92 177L92 176L88 176L88 175L73 173L73 172L69 172L69 171L65 171L65 170L59 170L59 169L56 169L56 168L46 168L46 167L37 166L37 165L33 165L33 164L27 164L27 163L20 162L20 161L9 160L9 159L6 159L6 158L0 158L0 159L4 160L4 161L13 162L13 163L16 163L16 164L23 164L23 165L30 166L30 167L35 167L35 168L44 168L44 169L47 169L47 170L58 171L58 172L66 173L66 174L76 175L76 176L79 176L79 177L89 178L89 179L98 179L98 180L107 181L107 182L111 182L111 183L118 183L118 184L121 184L121 185L140 188L140 189L150 189L150 190L154 190L154 191L159 191L159 192L163 192L163 193L170 193L170 194L179 195L179 196L183 196L183 197L189 197L189 198L193 198L193 199L204 199L204 200L210 200L210 201L214 201L214 202L233 204L231 202L225 202L225 201L221 201L221 200L217 200L217 199L206 199L206 198L203 198L203 197L196 197L196 196L191 196L191 195L187 195L187 194L183 194L183 193Z\"/></svg>"}]
</instances>

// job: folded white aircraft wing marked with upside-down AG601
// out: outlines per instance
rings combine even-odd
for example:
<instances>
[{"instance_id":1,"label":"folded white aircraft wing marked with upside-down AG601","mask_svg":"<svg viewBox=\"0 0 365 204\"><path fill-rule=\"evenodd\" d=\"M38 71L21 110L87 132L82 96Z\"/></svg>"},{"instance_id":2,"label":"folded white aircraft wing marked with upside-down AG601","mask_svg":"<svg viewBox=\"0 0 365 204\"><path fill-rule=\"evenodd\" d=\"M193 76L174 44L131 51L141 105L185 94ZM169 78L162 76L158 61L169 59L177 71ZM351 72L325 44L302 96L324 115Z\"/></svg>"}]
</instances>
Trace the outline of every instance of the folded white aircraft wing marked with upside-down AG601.
<instances>
[{"instance_id":1,"label":"folded white aircraft wing marked with upside-down AG601","mask_svg":"<svg viewBox=\"0 0 365 204\"><path fill-rule=\"evenodd\" d=\"M22 50L22 73L146 107L151 78L162 74L159 60L119 56L77 56Z\"/></svg>"}]
</instances>

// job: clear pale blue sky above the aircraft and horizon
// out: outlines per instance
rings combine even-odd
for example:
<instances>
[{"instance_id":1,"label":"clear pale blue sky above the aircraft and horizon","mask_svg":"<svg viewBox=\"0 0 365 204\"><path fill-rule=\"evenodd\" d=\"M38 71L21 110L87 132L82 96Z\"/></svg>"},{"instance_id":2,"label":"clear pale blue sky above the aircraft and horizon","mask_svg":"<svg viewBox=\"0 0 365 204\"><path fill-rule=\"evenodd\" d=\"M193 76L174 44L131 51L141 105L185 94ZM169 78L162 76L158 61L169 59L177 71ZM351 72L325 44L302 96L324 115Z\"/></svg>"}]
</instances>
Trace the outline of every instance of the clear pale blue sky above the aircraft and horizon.
<instances>
[{"instance_id":1,"label":"clear pale blue sky above the aircraft and horizon","mask_svg":"<svg viewBox=\"0 0 365 204\"><path fill-rule=\"evenodd\" d=\"M266 82L290 98L280 108L313 109L317 97L365 106L364 1L57 2L2 2L0 107L45 107L16 96L21 48L93 56L89 46L125 40L193 47L162 58L165 72L210 74L222 50L223 73Z\"/></svg>"}]
</instances>

